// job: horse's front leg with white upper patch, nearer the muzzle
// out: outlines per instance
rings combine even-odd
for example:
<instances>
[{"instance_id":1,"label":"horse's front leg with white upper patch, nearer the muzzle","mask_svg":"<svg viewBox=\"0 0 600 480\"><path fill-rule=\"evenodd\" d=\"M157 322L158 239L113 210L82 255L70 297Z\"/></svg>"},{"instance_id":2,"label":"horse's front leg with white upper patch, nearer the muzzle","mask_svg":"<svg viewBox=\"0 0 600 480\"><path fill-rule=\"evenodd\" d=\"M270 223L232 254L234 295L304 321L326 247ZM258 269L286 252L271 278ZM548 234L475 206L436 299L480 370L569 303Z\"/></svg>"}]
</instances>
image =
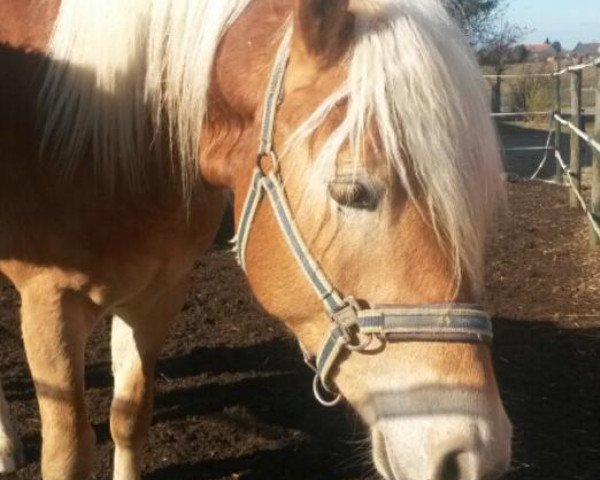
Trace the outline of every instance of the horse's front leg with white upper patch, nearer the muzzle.
<instances>
[{"instance_id":1,"label":"horse's front leg with white upper patch, nearer the muzzle","mask_svg":"<svg viewBox=\"0 0 600 480\"><path fill-rule=\"evenodd\" d=\"M115 480L141 477L141 459L154 403L154 367L169 328L185 300L188 281L128 305L113 317L115 391L110 430Z\"/></svg>"}]
</instances>

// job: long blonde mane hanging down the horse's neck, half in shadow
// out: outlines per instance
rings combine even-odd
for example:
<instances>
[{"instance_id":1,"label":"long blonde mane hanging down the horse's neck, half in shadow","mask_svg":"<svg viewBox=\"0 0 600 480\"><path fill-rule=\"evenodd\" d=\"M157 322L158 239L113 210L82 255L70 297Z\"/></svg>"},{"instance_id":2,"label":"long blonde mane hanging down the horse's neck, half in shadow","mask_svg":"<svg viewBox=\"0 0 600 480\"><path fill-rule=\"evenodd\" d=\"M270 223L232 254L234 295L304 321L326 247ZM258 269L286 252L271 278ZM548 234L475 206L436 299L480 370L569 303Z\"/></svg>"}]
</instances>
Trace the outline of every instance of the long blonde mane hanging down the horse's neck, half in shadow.
<instances>
[{"instance_id":1,"label":"long blonde mane hanging down the horse's neck, half in shadow","mask_svg":"<svg viewBox=\"0 0 600 480\"><path fill-rule=\"evenodd\" d=\"M45 149L66 174L139 191L148 145L168 132L189 195L215 53L250 0L62 0L41 93Z\"/></svg>"}]
</instances>

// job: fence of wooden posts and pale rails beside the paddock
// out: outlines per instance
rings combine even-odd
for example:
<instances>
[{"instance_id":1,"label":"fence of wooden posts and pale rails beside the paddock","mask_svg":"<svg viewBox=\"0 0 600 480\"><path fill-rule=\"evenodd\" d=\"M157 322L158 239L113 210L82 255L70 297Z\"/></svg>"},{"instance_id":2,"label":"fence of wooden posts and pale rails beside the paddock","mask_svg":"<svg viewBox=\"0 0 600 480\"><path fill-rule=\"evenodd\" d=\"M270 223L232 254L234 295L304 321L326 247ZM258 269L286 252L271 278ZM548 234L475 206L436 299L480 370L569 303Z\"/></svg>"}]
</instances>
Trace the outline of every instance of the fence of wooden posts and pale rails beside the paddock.
<instances>
[{"instance_id":1,"label":"fence of wooden posts and pale rails beside the paddock","mask_svg":"<svg viewBox=\"0 0 600 480\"><path fill-rule=\"evenodd\" d=\"M592 90L596 92L595 98L595 114L594 114L594 133L593 135L585 132L584 115L582 115L582 74L584 70L596 70L596 86ZM571 78L571 114L563 115L562 98L561 98L561 78L569 75ZM499 79L502 78L524 78L524 77L544 77L554 79L554 111L547 112L507 112L493 113L494 118L518 118L524 116L542 116L547 115L550 123L548 130L548 141L546 146L516 146L505 148L505 152L511 151L544 151L544 158L536 169L536 172L531 177L537 178L542 168L546 165L549 158L549 152L554 151L554 159L556 161L555 182L563 184L564 178L568 180L570 187L570 204L574 208L583 208L586 217L590 221L590 239L592 247L600 249L600 57L578 65L572 65L553 73L530 73L522 75L484 75L484 78ZM493 96L493 95L492 95ZM499 100L493 101L499 104ZM566 117L570 117L567 120ZM563 159L561 154L561 135L562 128L566 127L570 132L571 154L569 164ZM552 136L554 135L554 143ZM592 195L591 202L588 206L581 193L581 149L582 145L586 144L593 150L592 161Z\"/></svg>"}]
</instances>

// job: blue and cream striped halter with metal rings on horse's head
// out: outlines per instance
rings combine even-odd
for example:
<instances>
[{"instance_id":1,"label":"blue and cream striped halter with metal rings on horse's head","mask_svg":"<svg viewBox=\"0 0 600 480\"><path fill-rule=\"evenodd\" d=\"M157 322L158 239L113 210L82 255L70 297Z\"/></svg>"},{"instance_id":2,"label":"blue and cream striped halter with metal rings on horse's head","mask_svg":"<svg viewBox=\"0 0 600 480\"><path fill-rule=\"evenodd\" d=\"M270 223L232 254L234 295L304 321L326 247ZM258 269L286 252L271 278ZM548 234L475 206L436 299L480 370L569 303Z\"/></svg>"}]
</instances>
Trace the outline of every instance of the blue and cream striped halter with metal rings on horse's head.
<instances>
[{"instance_id":1,"label":"blue and cream striped halter with metal rings on horse's head","mask_svg":"<svg viewBox=\"0 0 600 480\"><path fill-rule=\"evenodd\" d=\"M279 178L278 159L273 150L277 106L283 95L283 80L290 55L291 22L277 52L265 97L261 141L257 165L242 208L237 231L237 259L246 270L246 248L258 206L265 197L286 242L308 282L323 302L331 328L316 357L302 347L307 365L315 372L313 390L317 400L334 406L341 400L331 381L333 367L344 351L364 351L374 338L382 346L390 341L490 343L493 337L489 315L475 305L384 305L362 308L352 297L343 297L331 285L318 262L308 250L292 215ZM265 173L260 162L270 157L273 168ZM332 397L325 399L325 393Z\"/></svg>"}]
</instances>

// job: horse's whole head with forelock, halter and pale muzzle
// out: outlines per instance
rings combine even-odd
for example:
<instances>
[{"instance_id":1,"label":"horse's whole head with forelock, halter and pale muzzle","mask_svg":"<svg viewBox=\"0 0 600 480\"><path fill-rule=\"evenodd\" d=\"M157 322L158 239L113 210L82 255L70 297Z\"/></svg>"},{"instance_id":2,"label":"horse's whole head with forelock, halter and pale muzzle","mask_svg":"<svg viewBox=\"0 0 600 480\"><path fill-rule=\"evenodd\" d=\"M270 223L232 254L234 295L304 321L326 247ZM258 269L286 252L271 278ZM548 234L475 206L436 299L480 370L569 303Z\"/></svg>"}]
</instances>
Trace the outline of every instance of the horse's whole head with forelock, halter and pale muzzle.
<instances>
[{"instance_id":1,"label":"horse's whole head with forelock, halter and pale muzzle","mask_svg":"<svg viewBox=\"0 0 600 480\"><path fill-rule=\"evenodd\" d=\"M257 143L261 127L267 143L274 131L279 158L264 150L254 177L269 201L244 205L250 167L233 182L253 291L310 356L324 355L331 312L355 299L339 320L360 348L341 340L315 386L339 391L368 423L386 479L496 478L511 426L480 341L487 323L460 305L480 299L502 185L466 42L437 0L298 0L289 61L285 45L279 54L269 68L287 65L283 86L274 74L272 99L260 93L253 130ZM271 108L273 128L269 115L260 121ZM280 184L260 183L273 169ZM277 213L281 202L289 212ZM341 294L329 305L319 267ZM383 311L396 331L361 330L361 311Z\"/></svg>"}]
</instances>

